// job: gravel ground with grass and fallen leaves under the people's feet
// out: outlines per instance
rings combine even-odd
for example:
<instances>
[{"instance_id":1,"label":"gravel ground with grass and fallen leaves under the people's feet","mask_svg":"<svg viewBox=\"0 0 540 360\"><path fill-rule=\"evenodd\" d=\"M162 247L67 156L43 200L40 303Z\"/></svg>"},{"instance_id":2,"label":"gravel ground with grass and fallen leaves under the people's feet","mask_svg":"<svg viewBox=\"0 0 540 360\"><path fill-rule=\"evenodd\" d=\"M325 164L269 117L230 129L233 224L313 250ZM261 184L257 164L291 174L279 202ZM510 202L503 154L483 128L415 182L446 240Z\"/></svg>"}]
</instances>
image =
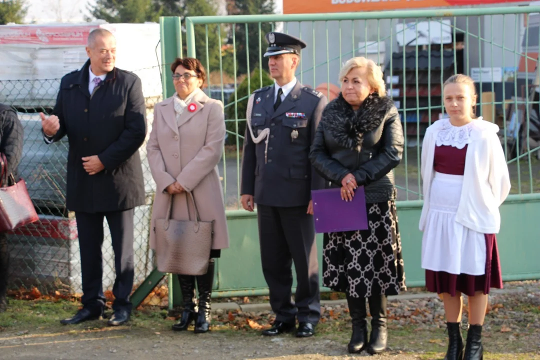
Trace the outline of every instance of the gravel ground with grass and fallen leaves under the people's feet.
<instances>
[{"instance_id":1,"label":"gravel ground with grass and fallen leaves under the people's feet","mask_svg":"<svg viewBox=\"0 0 540 360\"><path fill-rule=\"evenodd\" d=\"M484 327L485 359L540 359L540 283L505 284L490 297ZM63 327L58 318L78 303L12 301L0 314L0 359L314 359L341 360L349 355L350 319L345 304L324 307L317 334L260 335L273 316L268 311L216 311L213 331L194 335L172 332L167 311L145 307L130 325L107 328L105 321ZM24 314L23 314L24 313ZM23 316L24 315L24 316ZM446 350L444 310L437 297L389 302L389 349L380 359L442 359ZM36 320L36 318L39 320ZM464 311L463 323L467 323Z\"/></svg>"}]
</instances>

